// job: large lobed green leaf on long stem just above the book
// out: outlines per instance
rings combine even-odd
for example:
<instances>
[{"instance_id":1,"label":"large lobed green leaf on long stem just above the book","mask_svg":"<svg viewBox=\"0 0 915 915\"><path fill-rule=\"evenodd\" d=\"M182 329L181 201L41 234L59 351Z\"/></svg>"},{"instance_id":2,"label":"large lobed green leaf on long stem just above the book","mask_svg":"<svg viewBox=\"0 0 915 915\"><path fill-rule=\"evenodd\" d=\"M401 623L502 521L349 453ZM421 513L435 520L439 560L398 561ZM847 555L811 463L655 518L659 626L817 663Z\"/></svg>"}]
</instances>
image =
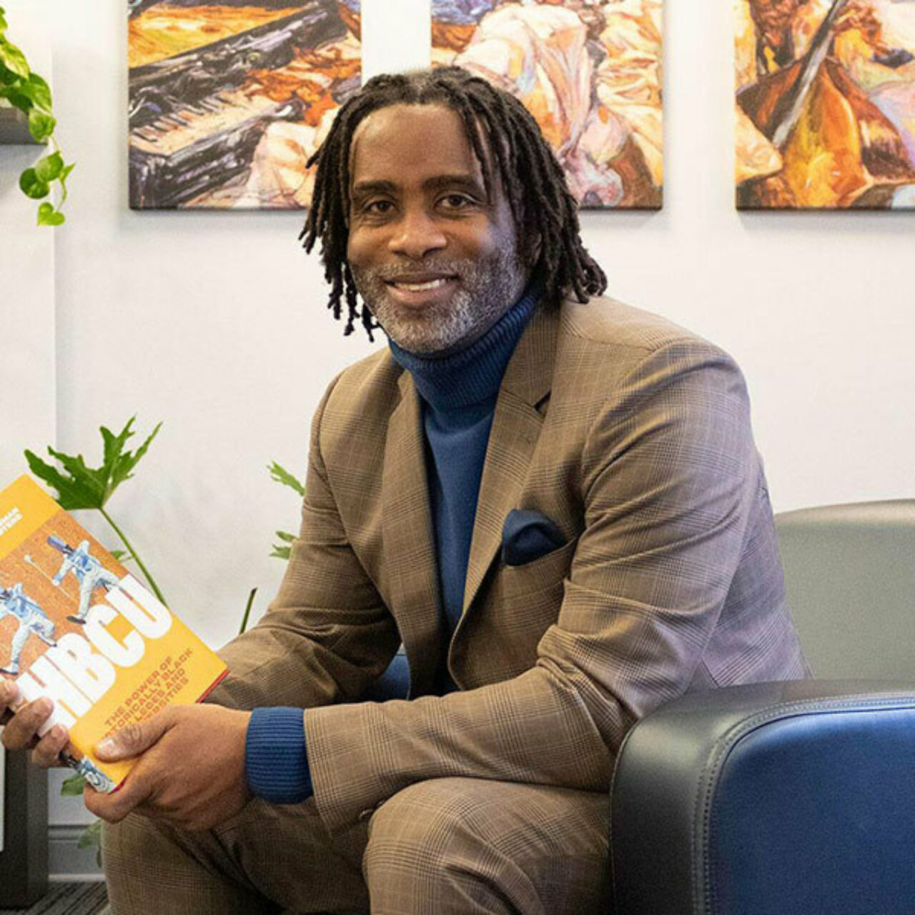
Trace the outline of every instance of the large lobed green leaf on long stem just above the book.
<instances>
[{"instance_id":1,"label":"large lobed green leaf on long stem just above the book","mask_svg":"<svg viewBox=\"0 0 915 915\"><path fill-rule=\"evenodd\" d=\"M68 455L62 451L55 451L48 447L48 454L57 458L64 472L38 458L38 455L26 451L28 467L38 479L43 479L54 490L57 490L57 500L61 508L67 511L74 509L102 509L111 498L114 490L130 478L130 471L135 468L137 461L142 458L150 442L162 424L156 425L151 435L143 445L133 453L124 451L124 445L134 433L131 426L135 416L127 421L127 425L118 435L102 426L102 439L104 441L104 460L99 468L87 467L82 455Z\"/></svg>"}]
</instances>

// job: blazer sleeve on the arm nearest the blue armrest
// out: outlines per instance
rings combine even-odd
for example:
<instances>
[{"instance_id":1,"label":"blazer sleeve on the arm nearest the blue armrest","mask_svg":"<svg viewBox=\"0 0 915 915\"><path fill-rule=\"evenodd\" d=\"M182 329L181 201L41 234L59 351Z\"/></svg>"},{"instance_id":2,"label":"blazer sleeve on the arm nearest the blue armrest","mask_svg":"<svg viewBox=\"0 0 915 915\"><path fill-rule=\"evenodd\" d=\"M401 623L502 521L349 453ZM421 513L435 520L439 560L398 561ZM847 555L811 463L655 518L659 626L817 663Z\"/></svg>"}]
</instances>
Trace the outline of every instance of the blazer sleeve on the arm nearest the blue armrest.
<instances>
[{"instance_id":1,"label":"blazer sleeve on the arm nearest the blue armrest","mask_svg":"<svg viewBox=\"0 0 915 915\"><path fill-rule=\"evenodd\" d=\"M746 387L701 339L643 351L614 387L583 443L584 529L534 666L444 696L308 711L329 830L417 780L606 791L626 731L690 684L757 499Z\"/></svg>"}]
</instances>

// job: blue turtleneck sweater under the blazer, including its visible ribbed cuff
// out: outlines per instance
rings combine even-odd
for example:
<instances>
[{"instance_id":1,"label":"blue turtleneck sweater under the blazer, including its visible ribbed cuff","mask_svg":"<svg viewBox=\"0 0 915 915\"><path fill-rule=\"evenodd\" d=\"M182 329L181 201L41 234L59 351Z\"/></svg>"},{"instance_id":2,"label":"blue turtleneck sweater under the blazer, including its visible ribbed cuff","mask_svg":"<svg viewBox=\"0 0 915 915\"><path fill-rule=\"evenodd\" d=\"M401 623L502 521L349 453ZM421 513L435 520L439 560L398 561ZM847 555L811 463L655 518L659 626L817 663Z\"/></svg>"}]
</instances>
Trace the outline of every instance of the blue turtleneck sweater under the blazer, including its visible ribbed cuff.
<instances>
[{"instance_id":1,"label":"blue turtleneck sweater under the blazer, including its visible ribbed cuff","mask_svg":"<svg viewBox=\"0 0 915 915\"><path fill-rule=\"evenodd\" d=\"M413 376L423 408L445 645L464 602L479 480L502 376L538 299L538 290L529 288L479 340L449 356L417 355L391 340L393 358ZM437 691L456 688L442 657ZM245 767L251 790L267 801L299 803L312 793L302 709L254 709Z\"/></svg>"}]
</instances>

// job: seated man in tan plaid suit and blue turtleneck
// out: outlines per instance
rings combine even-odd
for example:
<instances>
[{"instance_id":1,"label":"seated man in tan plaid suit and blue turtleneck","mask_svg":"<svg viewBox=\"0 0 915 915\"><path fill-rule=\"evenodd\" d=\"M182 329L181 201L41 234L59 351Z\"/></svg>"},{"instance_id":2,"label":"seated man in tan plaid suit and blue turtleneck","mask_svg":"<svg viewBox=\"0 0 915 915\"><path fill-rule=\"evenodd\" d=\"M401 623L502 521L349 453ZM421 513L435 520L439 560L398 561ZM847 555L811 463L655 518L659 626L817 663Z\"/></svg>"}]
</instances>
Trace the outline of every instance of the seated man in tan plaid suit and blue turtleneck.
<instances>
[{"instance_id":1,"label":"seated man in tan plaid suit and blue turtleneck","mask_svg":"<svg viewBox=\"0 0 915 915\"><path fill-rule=\"evenodd\" d=\"M304 235L347 331L377 319L391 348L318 407L280 593L223 651L231 707L100 748L140 757L86 798L118 823L113 910L602 908L632 723L806 670L739 372L592 297L533 118L462 70L340 109ZM409 699L359 701L401 640Z\"/></svg>"}]
</instances>

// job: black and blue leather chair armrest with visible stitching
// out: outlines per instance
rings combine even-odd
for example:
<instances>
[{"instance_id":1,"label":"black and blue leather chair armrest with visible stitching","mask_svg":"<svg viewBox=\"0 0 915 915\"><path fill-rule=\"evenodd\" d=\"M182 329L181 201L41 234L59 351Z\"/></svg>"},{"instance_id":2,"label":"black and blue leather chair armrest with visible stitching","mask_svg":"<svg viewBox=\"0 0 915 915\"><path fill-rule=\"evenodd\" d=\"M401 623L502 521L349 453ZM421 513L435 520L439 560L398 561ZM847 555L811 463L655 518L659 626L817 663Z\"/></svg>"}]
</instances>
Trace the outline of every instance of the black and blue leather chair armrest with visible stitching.
<instances>
[{"instance_id":1,"label":"black and blue leather chair armrest with visible stitching","mask_svg":"<svg viewBox=\"0 0 915 915\"><path fill-rule=\"evenodd\" d=\"M910 913L915 683L688 694L619 750L617 915Z\"/></svg>"}]
</instances>

